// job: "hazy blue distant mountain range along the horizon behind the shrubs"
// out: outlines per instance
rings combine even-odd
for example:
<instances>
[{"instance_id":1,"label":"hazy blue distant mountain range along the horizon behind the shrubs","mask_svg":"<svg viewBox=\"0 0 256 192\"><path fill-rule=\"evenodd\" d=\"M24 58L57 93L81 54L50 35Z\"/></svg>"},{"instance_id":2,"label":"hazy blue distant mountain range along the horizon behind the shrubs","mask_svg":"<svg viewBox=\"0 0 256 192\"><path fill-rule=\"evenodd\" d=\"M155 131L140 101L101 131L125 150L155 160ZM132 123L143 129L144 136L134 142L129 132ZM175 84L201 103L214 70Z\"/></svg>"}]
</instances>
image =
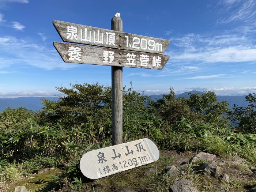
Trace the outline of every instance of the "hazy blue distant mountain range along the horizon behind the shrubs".
<instances>
[{"instance_id":1,"label":"hazy blue distant mountain range along the horizon behind the shrubs","mask_svg":"<svg viewBox=\"0 0 256 192\"><path fill-rule=\"evenodd\" d=\"M189 93L199 93L203 94L203 92L200 91L189 91L185 92L179 95L176 95L176 97L184 97L184 98L189 98ZM229 108L231 109L232 105L236 104L240 107L245 107L248 105L248 102L245 101L245 96L222 96L222 95L217 95L218 101L228 101ZM159 99L162 98L163 95L150 95L151 99ZM58 97L44 97L52 101L57 101L59 98ZM19 108L19 107L24 107L33 111L36 110L41 110L42 109L42 104L41 104L41 99L42 97L18 97L14 99L9 99L9 98L0 98L0 111L5 110L7 107L11 108Z\"/></svg>"}]
</instances>

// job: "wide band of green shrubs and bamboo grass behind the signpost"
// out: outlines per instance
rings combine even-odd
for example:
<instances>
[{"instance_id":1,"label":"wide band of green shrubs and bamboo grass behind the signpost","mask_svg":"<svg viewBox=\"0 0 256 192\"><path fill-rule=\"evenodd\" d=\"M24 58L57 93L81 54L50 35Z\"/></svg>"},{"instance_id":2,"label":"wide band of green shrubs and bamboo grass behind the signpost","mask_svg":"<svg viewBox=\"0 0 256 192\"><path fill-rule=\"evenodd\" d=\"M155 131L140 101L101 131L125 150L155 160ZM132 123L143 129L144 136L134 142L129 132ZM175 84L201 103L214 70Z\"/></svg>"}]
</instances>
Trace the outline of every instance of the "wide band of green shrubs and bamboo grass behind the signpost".
<instances>
[{"instance_id":1,"label":"wide band of green shrubs and bamboo grass behind the signpost","mask_svg":"<svg viewBox=\"0 0 256 192\"><path fill-rule=\"evenodd\" d=\"M43 99L41 112L25 108L0 112L0 175L8 175L4 180L0 177L0 183L46 167L62 166L64 174L54 176L54 186L88 191L79 159L89 150L111 144L111 88L83 83L57 89L65 96L56 102ZM123 141L146 137L161 149L205 151L222 157L239 155L253 164L255 94L249 94L246 100L250 102L248 107L234 106L229 113L241 128L237 131L224 116L227 102L218 102L211 91L190 94L185 99L176 98L171 88L169 94L153 101L132 88L124 88ZM188 170L181 175L190 178L192 173ZM153 191L164 191L172 182L157 174L147 181L158 182ZM151 182L147 189L152 188Z\"/></svg>"}]
</instances>

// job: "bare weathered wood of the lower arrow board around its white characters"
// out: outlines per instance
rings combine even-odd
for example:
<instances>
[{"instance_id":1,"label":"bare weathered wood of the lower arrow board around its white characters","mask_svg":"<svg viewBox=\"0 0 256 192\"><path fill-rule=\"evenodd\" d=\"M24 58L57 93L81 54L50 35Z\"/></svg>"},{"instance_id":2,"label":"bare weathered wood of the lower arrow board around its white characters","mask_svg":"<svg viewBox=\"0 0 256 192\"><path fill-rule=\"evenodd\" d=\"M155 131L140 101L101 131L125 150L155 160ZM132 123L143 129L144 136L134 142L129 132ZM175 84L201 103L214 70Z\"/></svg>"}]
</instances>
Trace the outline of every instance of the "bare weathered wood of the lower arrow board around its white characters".
<instances>
[{"instance_id":1,"label":"bare weathered wood of the lower arrow board around its white characters","mask_svg":"<svg viewBox=\"0 0 256 192\"><path fill-rule=\"evenodd\" d=\"M77 44L69 44L69 43L60 43L54 42L54 47L60 54L61 58L64 62L67 63L81 63L81 64L93 64L93 65L108 65L108 66L117 66L117 67L135 67L135 68L148 68L148 69L162 69L169 59L169 55L159 55L154 53L143 53L143 52L135 52L135 51L128 51L128 50L121 50L121 49L110 49L110 48L102 48L96 46L85 46L85 45L77 45ZM69 47L78 47L81 49L81 60L69 60ZM114 60L112 63L103 63L103 50L105 51L113 51ZM134 54L136 55L134 63L136 65L126 64L129 63L127 60L127 54ZM148 65L141 66L140 63L140 55L148 55L149 61ZM161 58L161 66L153 66L153 59L154 56Z\"/></svg>"}]
</instances>

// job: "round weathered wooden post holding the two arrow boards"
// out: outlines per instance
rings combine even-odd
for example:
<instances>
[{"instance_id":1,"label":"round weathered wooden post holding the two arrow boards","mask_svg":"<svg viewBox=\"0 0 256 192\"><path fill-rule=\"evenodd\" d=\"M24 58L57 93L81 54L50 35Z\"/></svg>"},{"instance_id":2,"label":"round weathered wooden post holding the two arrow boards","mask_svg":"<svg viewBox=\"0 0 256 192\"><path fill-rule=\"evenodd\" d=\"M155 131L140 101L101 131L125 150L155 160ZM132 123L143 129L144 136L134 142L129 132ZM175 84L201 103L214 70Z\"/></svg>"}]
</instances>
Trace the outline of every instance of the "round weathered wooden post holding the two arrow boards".
<instances>
[{"instance_id":1,"label":"round weathered wooden post holding the two arrow boards","mask_svg":"<svg viewBox=\"0 0 256 192\"><path fill-rule=\"evenodd\" d=\"M123 32L120 17L111 19L111 30ZM122 46L122 45L120 45ZM111 67L112 77L112 145L123 143L123 67Z\"/></svg>"}]
</instances>

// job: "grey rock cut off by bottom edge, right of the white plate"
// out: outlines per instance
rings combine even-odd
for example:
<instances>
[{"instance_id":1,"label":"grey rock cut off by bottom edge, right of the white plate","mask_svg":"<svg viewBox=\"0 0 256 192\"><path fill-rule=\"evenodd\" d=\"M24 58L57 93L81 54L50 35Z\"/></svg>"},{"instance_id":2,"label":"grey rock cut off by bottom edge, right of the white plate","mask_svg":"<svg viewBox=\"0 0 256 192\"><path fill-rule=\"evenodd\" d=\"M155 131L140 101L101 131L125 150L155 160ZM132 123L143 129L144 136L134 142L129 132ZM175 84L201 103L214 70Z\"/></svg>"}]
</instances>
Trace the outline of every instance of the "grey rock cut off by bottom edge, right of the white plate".
<instances>
[{"instance_id":1,"label":"grey rock cut off by bottom edge, right of the white plate","mask_svg":"<svg viewBox=\"0 0 256 192\"><path fill-rule=\"evenodd\" d=\"M170 192L199 192L192 186L192 182L184 179L176 181L171 187Z\"/></svg>"}]
</instances>

